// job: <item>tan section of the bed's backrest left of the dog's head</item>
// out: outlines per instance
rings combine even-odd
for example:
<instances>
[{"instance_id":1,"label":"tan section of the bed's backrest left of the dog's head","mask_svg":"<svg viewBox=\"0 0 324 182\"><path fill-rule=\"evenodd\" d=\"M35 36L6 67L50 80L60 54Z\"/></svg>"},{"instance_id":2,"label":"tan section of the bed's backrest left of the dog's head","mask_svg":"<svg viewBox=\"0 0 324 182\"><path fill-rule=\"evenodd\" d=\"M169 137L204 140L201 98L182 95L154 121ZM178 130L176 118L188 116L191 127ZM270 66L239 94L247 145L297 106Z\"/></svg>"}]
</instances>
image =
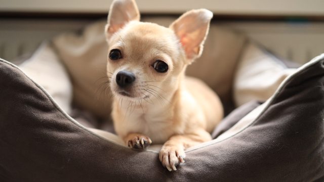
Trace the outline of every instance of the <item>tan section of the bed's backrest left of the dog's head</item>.
<instances>
[{"instance_id":1,"label":"tan section of the bed's backrest left of the dog's head","mask_svg":"<svg viewBox=\"0 0 324 182\"><path fill-rule=\"evenodd\" d=\"M73 85L73 104L100 118L110 117L111 97L105 82L107 43L104 24L96 22L82 32L65 32L53 38L53 47Z\"/></svg>"}]
</instances>

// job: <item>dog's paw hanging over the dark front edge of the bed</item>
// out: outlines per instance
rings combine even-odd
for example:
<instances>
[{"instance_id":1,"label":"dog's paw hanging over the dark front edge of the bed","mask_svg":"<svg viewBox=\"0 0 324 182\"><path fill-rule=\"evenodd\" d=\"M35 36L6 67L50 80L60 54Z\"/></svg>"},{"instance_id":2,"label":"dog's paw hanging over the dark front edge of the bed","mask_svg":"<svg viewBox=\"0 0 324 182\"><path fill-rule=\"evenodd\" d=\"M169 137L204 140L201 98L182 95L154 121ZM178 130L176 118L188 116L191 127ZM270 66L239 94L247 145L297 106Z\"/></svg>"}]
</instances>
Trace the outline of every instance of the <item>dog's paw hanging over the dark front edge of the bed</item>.
<instances>
[{"instance_id":1,"label":"dog's paw hanging over the dark front edge of the bed","mask_svg":"<svg viewBox=\"0 0 324 182\"><path fill-rule=\"evenodd\" d=\"M184 163L186 154L183 149L175 146L163 146L159 153L159 160L169 171L177 170L176 166Z\"/></svg>"}]
</instances>

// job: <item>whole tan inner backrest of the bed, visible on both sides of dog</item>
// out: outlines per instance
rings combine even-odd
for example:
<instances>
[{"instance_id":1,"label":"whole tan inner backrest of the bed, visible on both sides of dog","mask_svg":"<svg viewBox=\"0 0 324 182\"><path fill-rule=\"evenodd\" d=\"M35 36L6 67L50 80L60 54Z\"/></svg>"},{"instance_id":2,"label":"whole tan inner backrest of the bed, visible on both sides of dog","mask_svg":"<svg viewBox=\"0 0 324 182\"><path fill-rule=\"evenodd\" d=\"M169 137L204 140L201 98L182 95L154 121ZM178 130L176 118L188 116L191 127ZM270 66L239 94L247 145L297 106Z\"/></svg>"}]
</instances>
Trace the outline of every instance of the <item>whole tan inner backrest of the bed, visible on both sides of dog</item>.
<instances>
[{"instance_id":1,"label":"whole tan inner backrest of the bed, visible on both sides of dog","mask_svg":"<svg viewBox=\"0 0 324 182\"><path fill-rule=\"evenodd\" d=\"M142 21L169 26L174 18L144 17ZM106 76L108 53L103 31L106 23L107 20L98 21L88 25L81 33L64 33L53 39L56 52L72 80L73 102L101 118L108 118L111 111L111 97L105 92L109 88L102 84ZM230 90L235 67L245 43L244 34L213 22L203 55L187 68L188 75L204 80L217 92L226 113L234 108Z\"/></svg>"}]
</instances>

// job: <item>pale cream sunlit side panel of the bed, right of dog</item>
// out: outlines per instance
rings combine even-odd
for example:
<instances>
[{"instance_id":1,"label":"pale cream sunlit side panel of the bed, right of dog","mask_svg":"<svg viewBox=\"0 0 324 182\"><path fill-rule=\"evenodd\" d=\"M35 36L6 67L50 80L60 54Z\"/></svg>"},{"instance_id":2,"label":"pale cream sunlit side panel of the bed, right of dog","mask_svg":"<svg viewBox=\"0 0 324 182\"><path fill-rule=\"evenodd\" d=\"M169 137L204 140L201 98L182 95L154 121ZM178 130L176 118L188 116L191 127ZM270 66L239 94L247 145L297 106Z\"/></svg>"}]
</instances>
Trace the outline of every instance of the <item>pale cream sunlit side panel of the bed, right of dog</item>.
<instances>
[{"instance_id":1,"label":"pale cream sunlit side panel of the bed, right of dog","mask_svg":"<svg viewBox=\"0 0 324 182\"><path fill-rule=\"evenodd\" d=\"M232 89L236 107L254 100L265 102L280 83L299 66L278 59L252 41L246 43L241 53L234 72Z\"/></svg>"}]
</instances>

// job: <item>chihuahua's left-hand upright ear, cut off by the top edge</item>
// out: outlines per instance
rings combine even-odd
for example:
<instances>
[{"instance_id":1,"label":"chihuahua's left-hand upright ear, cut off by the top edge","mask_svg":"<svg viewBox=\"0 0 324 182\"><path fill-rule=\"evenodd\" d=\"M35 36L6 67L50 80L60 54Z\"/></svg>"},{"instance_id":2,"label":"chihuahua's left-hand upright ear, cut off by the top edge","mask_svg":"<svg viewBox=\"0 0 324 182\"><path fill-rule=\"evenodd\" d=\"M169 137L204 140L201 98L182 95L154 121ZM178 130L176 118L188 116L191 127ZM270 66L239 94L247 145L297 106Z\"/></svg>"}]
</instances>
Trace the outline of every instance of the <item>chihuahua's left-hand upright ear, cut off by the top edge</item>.
<instances>
[{"instance_id":1,"label":"chihuahua's left-hand upright ear, cut off by the top edge","mask_svg":"<svg viewBox=\"0 0 324 182\"><path fill-rule=\"evenodd\" d=\"M112 34L133 20L140 20L140 13L135 0L114 0L110 6L105 26L107 40Z\"/></svg>"}]
</instances>

